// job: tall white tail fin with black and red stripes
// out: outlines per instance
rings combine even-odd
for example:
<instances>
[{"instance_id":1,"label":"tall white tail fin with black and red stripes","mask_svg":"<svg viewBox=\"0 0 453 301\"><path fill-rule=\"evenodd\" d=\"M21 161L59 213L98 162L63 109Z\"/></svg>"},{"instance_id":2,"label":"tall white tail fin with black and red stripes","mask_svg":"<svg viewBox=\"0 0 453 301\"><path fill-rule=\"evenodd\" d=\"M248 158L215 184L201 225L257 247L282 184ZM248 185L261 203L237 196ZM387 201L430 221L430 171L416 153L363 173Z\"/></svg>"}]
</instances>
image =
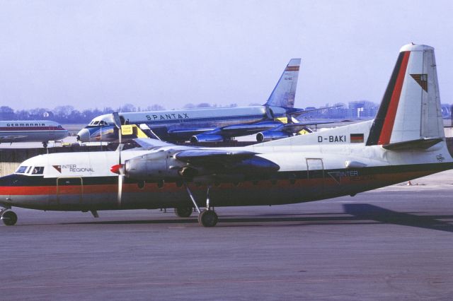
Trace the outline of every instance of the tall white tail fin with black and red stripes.
<instances>
[{"instance_id":1,"label":"tall white tail fin with black and red stripes","mask_svg":"<svg viewBox=\"0 0 453 301\"><path fill-rule=\"evenodd\" d=\"M434 48L400 49L367 146L444 138Z\"/></svg>"}]
</instances>

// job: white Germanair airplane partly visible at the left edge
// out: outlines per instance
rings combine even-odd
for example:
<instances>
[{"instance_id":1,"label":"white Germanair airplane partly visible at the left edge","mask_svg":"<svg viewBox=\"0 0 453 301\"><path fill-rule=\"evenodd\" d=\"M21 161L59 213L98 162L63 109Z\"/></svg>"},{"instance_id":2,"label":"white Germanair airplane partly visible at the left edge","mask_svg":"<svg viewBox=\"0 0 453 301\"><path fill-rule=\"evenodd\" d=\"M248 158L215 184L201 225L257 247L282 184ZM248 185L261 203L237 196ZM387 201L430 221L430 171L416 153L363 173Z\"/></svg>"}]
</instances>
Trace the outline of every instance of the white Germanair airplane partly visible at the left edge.
<instances>
[{"instance_id":1,"label":"white Germanair airplane partly visible at the left edge","mask_svg":"<svg viewBox=\"0 0 453 301\"><path fill-rule=\"evenodd\" d=\"M47 147L49 141L67 136L66 129L49 120L0 121L0 143L42 142Z\"/></svg>"}]
</instances>

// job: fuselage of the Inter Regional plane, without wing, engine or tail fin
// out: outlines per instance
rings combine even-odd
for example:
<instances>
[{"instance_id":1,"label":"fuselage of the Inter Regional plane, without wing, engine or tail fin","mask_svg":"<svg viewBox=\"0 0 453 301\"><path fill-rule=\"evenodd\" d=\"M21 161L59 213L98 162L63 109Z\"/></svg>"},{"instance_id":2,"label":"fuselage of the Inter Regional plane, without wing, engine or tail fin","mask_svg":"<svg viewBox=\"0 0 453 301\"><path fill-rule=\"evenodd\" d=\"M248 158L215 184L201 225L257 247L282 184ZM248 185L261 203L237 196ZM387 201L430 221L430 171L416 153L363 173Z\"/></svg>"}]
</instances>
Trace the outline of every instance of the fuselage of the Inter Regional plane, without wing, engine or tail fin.
<instances>
[{"instance_id":1,"label":"fuselage of the Inter Regional plane, without wing, engine or tail fin","mask_svg":"<svg viewBox=\"0 0 453 301\"><path fill-rule=\"evenodd\" d=\"M355 195L453 167L445 142L430 151L411 151L408 155L408 152L386 151L382 146L364 147L340 129L338 135L329 131L319 145L249 146L249 151L279 165L280 170L267 175L214 180L210 183L211 205L276 205ZM313 141L321 140L320 135L324 138L322 134L309 135L306 138L311 137ZM341 141L339 138L329 141L329 136L345 137ZM123 151L121 160L147 153ZM182 177L158 182L125 178L119 202L118 177L110 172L110 167L117 163L118 153L113 151L55 153L31 158L21 165L21 173L0 178L0 205L57 211L173 208L190 206L187 184L199 206L203 206L207 183L197 178L184 182ZM42 175L33 175L35 167L42 167Z\"/></svg>"}]
</instances>

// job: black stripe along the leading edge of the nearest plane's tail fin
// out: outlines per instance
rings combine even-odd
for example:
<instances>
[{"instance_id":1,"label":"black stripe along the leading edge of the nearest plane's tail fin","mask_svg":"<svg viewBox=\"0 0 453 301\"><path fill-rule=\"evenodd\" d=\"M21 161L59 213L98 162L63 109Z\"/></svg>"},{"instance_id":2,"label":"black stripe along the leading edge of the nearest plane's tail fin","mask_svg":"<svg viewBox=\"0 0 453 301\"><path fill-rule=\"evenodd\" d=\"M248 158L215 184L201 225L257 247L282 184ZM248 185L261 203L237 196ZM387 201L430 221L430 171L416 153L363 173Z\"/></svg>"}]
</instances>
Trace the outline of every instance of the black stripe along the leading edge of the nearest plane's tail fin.
<instances>
[{"instance_id":1,"label":"black stripe along the leading edge of the nearest plane's tail fin","mask_svg":"<svg viewBox=\"0 0 453 301\"><path fill-rule=\"evenodd\" d=\"M401 63L403 61L404 52L400 52L398 59L396 60L395 68L393 73L391 73L391 78L389 81L389 85L387 85L387 89L384 93L384 98L382 98L381 105L379 106L379 110L377 111L377 115L374 118L373 125L369 130L369 136L367 140L367 146L375 146L379 141L379 136L381 135L382 126L384 126L384 120L389 110L391 95L394 92L396 78L398 78L399 70L401 69Z\"/></svg>"}]
</instances>

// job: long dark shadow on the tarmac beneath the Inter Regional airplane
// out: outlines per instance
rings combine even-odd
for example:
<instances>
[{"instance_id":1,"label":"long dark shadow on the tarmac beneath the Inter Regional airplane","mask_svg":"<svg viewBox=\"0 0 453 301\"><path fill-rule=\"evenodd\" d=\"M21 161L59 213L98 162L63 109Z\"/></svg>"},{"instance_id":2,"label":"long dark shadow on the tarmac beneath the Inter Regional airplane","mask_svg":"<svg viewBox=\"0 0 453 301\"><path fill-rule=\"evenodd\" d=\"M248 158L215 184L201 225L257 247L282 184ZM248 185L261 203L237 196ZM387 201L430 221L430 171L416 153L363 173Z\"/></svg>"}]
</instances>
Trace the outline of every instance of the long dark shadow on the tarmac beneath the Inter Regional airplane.
<instances>
[{"instance_id":1,"label":"long dark shadow on the tarmac beneath the Inter Regional airplane","mask_svg":"<svg viewBox=\"0 0 453 301\"><path fill-rule=\"evenodd\" d=\"M219 217L219 223L302 223L301 225L333 225L333 224L372 224L386 223L394 225L406 225L410 227L453 232L451 223L443 222L439 219L453 218L453 216L419 216L413 213L400 213L391 211L379 206L369 205L367 203L348 203L343 204L345 213L350 216L344 216L342 213L318 213L316 216L307 214L304 216L294 214L278 216L260 216L246 218L228 218ZM63 223L64 225L124 225L124 224L185 224L197 223L197 218L173 218L173 219L156 219L156 220L105 220L81 223ZM293 224L294 225L294 224ZM237 226L237 225L236 225Z\"/></svg>"}]
</instances>

